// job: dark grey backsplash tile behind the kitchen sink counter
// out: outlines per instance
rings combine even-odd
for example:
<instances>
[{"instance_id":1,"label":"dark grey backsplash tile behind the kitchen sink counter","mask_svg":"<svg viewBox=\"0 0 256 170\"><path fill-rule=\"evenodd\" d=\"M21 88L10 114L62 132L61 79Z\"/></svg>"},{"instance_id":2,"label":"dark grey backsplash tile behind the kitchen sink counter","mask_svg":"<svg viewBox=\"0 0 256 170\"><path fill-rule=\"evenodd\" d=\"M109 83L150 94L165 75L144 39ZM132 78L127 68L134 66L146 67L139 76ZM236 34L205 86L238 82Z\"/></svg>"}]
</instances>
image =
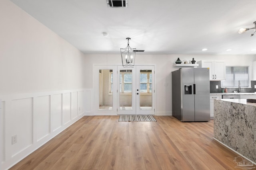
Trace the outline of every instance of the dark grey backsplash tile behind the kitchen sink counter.
<instances>
[{"instance_id":1,"label":"dark grey backsplash tile behind the kitchen sink counter","mask_svg":"<svg viewBox=\"0 0 256 170\"><path fill-rule=\"evenodd\" d=\"M219 86L218 89L216 89L216 85ZM254 88L254 85L256 85L256 81L251 81L251 88L241 88L241 93L254 93L256 92L256 89ZM224 88L221 88L221 82L220 81L210 81L210 93L222 93L222 90ZM228 92L232 93L234 91L238 91L237 88L228 88Z\"/></svg>"}]
</instances>

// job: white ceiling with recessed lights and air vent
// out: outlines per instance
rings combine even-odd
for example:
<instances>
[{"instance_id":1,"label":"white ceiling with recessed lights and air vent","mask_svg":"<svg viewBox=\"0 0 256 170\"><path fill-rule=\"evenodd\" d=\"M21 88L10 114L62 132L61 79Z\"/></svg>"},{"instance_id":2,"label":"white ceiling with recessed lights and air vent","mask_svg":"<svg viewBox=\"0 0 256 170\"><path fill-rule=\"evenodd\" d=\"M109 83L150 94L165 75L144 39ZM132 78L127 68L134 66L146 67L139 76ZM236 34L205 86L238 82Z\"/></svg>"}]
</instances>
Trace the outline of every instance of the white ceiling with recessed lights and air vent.
<instances>
[{"instance_id":1,"label":"white ceiling with recessed lights and air vent","mask_svg":"<svg viewBox=\"0 0 256 170\"><path fill-rule=\"evenodd\" d=\"M255 0L11 1L85 54L119 54L127 37L137 54L256 54L254 30L238 34L254 27Z\"/></svg>"}]
</instances>

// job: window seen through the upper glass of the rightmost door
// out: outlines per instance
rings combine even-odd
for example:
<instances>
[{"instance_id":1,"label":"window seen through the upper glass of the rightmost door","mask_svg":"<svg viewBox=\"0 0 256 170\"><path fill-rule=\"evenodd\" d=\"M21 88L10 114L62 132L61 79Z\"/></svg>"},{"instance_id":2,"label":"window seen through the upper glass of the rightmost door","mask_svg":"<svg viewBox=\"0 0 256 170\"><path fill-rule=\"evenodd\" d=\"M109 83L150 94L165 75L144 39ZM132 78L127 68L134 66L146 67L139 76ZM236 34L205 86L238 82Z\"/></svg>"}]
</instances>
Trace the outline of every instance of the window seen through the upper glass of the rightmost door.
<instances>
[{"instance_id":1,"label":"window seen through the upper glass of the rightmost door","mask_svg":"<svg viewBox=\"0 0 256 170\"><path fill-rule=\"evenodd\" d=\"M152 92L152 71L140 70L140 92Z\"/></svg>"}]
</instances>

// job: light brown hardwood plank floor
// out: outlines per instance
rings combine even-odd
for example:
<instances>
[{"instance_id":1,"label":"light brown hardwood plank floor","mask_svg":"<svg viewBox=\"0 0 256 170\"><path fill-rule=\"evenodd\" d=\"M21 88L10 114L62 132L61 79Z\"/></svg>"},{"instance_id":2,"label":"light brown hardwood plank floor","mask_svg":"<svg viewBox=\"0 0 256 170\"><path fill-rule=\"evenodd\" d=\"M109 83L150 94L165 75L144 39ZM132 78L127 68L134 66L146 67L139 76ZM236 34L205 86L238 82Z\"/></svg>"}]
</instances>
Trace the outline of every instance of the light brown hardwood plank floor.
<instances>
[{"instance_id":1,"label":"light brown hardwood plank floor","mask_svg":"<svg viewBox=\"0 0 256 170\"><path fill-rule=\"evenodd\" d=\"M118 122L85 116L11 170L234 170L238 154L213 137L213 120Z\"/></svg>"}]
</instances>

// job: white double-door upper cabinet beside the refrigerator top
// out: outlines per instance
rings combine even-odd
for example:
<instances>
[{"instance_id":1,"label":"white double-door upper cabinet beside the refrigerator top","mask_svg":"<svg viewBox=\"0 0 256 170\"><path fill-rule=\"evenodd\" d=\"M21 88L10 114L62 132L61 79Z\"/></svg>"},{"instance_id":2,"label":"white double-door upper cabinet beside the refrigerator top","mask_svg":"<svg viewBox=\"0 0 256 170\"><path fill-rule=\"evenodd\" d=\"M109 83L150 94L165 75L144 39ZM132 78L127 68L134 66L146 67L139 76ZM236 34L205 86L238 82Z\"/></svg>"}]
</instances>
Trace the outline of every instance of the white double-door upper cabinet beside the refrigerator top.
<instances>
[{"instance_id":1,"label":"white double-door upper cabinet beside the refrigerator top","mask_svg":"<svg viewBox=\"0 0 256 170\"><path fill-rule=\"evenodd\" d=\"M209 68L210 80L226 80L226 64L222 60L202 60L197 62L199 67Z\"/></svg>"}]
</instances>

